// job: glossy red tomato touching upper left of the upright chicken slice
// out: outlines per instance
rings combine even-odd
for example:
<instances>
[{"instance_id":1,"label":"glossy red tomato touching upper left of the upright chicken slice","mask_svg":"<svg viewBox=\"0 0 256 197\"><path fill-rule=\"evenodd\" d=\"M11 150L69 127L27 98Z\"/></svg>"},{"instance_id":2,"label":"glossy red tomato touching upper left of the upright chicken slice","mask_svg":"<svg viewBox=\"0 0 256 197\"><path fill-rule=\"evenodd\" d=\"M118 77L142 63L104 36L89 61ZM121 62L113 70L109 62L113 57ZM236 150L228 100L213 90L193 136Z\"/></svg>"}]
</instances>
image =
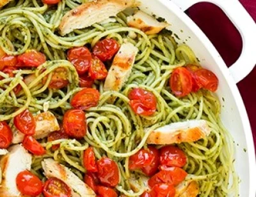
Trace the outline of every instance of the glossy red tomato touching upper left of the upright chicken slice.
<instances>
[{"instance_id":1,"label":"glossy red tomato touching upper left of the upright chicken slice","mask_svg":"<svg viewBox=\"0 0 256 197\"><path fill-rule=\"evenodd\" d=\"M113 39L100 40L93 47L93 54L96 55L100 61L104 62L112 59L120 48L119 43Z\"/></svg>"}]
</instances>

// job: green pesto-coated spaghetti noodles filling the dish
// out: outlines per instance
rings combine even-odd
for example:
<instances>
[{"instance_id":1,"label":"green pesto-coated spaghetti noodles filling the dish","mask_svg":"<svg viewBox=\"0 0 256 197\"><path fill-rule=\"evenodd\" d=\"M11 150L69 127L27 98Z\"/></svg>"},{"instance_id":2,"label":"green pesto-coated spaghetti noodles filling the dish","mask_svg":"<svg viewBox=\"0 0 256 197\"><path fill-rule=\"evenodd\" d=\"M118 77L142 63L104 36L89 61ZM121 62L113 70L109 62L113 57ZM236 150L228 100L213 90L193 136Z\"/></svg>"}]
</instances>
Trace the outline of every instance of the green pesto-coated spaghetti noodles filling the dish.
<instances>
[{"instance_id":1,"label":"green pesto-coated spaghetti noodles filling the dish","mask_svg":"<svg viewBox=\"0 0 256 197\"><path fill-rule=\"evenodd\" d=\"M4 52L18 55L35 48L49 59L36 69L16 71L17 75L13 78L0 71L3 78L0 81L3 87L0 89L0 120L10 120L10 124L12 118L26 108L33 113L51 110L59 120L63 119L63 113L71 108L70 98L81 90L76 69L67 61L65 50L68 48L93 47L97 41L107 37L115 38L119 43L129 41L139 49L132 74L122 91L104 92L104 82L95 82L94 87L101 94L100 102L97 107L86 110L88 133L84 139L47 142L44 138L40 143L47 149L47 154L33 157L33 173L44 180L41 161L52 157L83 179L86 172L81 163L83 150L91 145L98 159L108 156L118 163L121 180L116 189L127 196L140 196L144 191L143 184L138 193L131 193L127 182L131 173L140 177L140 172L129 170L129 156L147 147L145 142L150 131L159 126L180 120L204 119L211 128L211 135L198 142L178 145L188 156L188 163L184 166L189 173L186 179L199 182L199 196L239 196L233 164L233 140L221 124L218 98L205 90L176 98L168 86L173 69L186 63L198 64L193 51L187 45L178 45L170 32L148 36L128 27L125 13L119 13L115 22L94 24L65 37L59 36L61 17L84 2L63 0L58 6L48 6L36 0L19 0L12 1L0 11L0 47ZM48 88L52 71L57 68L68 70L67 89ZM28 74L36 77L29 85L23 82ZM47 81L44 84L42 80L45 77ZM22 91L15 95L13 91L19 84ZM142 87L156 96L157 112L154 115L141 117L131 110L127 94L133 87ZM116 101L109 104L108 99L113 96ZM150 131L145 133L145 128ZM57 143L61 143L60 149L52 151L52 145Z\"/></svg>"}]
</instances>

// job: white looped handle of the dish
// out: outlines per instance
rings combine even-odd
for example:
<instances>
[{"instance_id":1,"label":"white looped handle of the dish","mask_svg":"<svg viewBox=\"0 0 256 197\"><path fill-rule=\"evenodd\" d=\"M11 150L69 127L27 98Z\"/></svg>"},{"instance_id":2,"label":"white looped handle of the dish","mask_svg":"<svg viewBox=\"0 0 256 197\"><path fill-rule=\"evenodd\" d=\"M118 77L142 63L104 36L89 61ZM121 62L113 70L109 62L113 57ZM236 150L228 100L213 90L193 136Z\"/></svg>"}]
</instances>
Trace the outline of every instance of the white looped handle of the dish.
<instances>
[{"instance_id":1,"label":"white looped handle of the dish","mask_svg":"<svg viewBox=\"0 0 256 197\"><path fill-rule=\"evenodd\" d=\"M243 39L243 50L229 71L235 82L243 80L256 64L256 24L238 0L171 0L185 11L200 2L214 3L219 6L237 27Z\"/></svg>"}]
</instances>

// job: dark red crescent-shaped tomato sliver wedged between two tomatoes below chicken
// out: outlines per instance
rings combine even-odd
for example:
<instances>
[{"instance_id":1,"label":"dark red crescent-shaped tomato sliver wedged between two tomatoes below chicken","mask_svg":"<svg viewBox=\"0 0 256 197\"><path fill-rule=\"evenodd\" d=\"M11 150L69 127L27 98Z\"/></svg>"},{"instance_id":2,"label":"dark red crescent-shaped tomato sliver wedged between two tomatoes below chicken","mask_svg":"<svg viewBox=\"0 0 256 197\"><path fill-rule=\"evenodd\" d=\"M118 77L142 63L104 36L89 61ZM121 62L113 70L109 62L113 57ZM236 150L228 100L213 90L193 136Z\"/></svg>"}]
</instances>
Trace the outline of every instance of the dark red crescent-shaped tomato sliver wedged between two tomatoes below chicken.
<instances>
[{"instance_id":1,"label":"dark red crescent-shaped tomato sliver wedged between two tomatoes below chicken","mask_svg":"<svg viewBox=\"0 0 256 197\"><path fill-rule=\"evenodd\" d=\"M143 173L145 173L145 175L151 177L156 173L159 166L159 151L155 147L151 146L149 146L148 149L150 150L150 154L154 155L154 159L152 163L147 166L143 166L141 170L143 171Z\"/></svg>"}]
</instances>

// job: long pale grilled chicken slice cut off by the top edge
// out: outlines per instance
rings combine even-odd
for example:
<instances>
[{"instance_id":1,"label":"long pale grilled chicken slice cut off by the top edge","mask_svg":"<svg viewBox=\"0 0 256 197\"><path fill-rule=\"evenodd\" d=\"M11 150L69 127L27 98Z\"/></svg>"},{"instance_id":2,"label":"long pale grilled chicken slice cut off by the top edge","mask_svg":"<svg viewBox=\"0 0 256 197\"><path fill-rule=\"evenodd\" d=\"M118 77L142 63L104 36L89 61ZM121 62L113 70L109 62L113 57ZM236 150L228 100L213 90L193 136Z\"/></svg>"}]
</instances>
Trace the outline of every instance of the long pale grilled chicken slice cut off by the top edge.
<instances>
[{"instance_id":1,"label":"long pale grilled chicken slice cut off by the top edge","mask_svg":"<svg viewBox=\"0 0 256 197\"><path fill-rule=\"evenodd\" d=\"M64 36L74 29L83 29L92 24L115 17L120 11L138 6L136 0L96 0L81 4L68 11L61 19L60 34Z\"/></svg>"}]
</instances>

